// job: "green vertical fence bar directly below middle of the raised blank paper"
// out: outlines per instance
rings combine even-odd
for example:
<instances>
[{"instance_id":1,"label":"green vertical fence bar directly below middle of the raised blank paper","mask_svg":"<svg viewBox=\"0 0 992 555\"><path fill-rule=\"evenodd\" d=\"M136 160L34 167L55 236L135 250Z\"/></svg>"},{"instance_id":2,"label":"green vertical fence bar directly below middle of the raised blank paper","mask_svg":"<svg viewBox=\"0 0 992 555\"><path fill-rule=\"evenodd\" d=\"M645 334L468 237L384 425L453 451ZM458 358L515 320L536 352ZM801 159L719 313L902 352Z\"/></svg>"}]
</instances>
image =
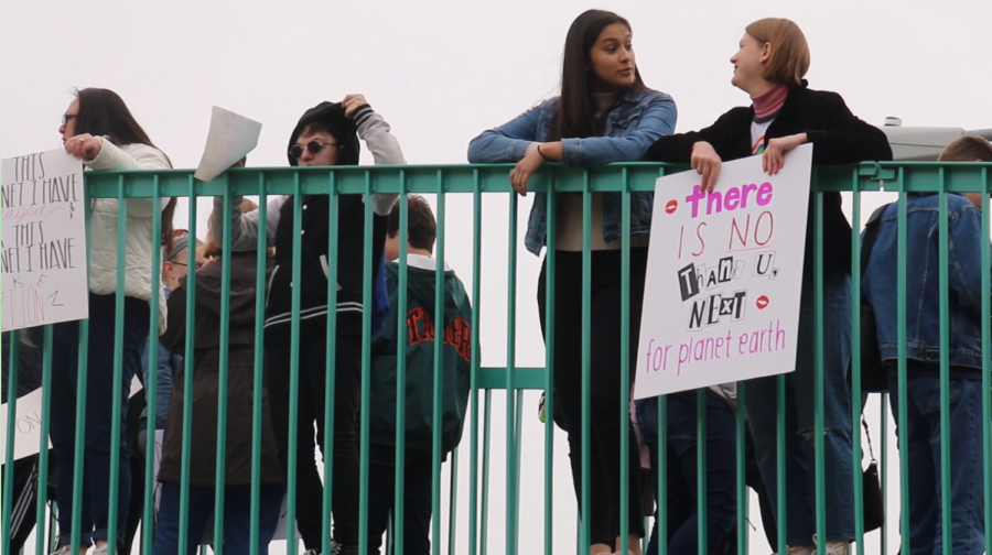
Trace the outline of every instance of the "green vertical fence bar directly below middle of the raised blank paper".
<instances>
[{"instance_id":1,"label":"green vertical fence bar directly below middle of the raised blank paper","mask_svg":"<svg viewBox=\"0 0 992 555\"><path fill-rule=\"evenodd\" d=\"M228 176L225 178L229 179ZM195 198L190 199L195 203ZM223 224L223 252L220 257L220 353L219 353L219 384L217 389L217 469L214 478L214 553L224 555L224 492L226 481L227 457L227 382L228 361L230 356L230 187L224 188L224 218ZM263 221L259 220L259 228ZM266 235L259 229L259 236ZM195 249L195 242L193 249ZM195 255L195 253L194 253ZM258 543L258 542L251 542Z\"/></svg>"}]
</instances>

